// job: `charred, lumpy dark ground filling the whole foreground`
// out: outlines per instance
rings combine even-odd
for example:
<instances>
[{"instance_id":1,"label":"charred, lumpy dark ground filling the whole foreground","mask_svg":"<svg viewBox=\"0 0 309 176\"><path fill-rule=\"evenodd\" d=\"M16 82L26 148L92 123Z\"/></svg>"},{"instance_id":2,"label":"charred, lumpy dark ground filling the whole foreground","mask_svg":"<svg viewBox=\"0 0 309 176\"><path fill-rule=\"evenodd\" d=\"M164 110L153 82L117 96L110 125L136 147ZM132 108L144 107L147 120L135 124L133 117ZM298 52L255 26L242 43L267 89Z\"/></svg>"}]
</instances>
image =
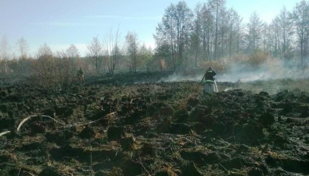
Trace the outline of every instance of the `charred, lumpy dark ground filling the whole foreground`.
<instances>
[{"instance_id":1,"label":"charred, lumpy dark ground filling the whole foreground","mask_svg":"<svg viewBox=\"0 0 309 176\"><path fill-rule=\"evenodd\" d=\"M0 88L0 132L11 131L0 176L309 175L308 80L219 82L203 94L197 82L154 83L164 76Z\"/></svg>"}]
</instances>

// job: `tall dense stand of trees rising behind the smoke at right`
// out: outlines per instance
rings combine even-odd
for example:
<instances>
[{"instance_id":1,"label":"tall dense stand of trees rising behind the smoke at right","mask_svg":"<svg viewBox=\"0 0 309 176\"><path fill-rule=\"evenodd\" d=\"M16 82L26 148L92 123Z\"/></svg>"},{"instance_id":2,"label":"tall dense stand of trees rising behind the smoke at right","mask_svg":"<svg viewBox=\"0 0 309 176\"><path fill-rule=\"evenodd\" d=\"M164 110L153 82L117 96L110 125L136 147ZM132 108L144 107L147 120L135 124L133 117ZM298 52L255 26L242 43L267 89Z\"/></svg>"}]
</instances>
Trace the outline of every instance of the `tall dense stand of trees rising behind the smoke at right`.
<instances>
[{"instance_id":1,"label":"tall dense stand of trees rising behind the smoke at right","mask_svg":"<svg viewBox=\"0 0 309 176\"><path fill-rule=\"evenodd\" d=\"M185 1L171 3L156 27L155 54L173 70L185 70L218 61L266 58L299 61L307 65L309 54L309 2L301 0L292 11L285 6L270 22L255 11L248 23L226 0L208 0L190 9ZM219 63L218 63L219 64Z\"/></svg>"}]
</instances>

